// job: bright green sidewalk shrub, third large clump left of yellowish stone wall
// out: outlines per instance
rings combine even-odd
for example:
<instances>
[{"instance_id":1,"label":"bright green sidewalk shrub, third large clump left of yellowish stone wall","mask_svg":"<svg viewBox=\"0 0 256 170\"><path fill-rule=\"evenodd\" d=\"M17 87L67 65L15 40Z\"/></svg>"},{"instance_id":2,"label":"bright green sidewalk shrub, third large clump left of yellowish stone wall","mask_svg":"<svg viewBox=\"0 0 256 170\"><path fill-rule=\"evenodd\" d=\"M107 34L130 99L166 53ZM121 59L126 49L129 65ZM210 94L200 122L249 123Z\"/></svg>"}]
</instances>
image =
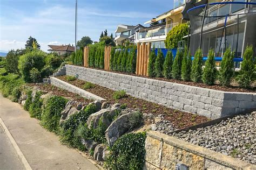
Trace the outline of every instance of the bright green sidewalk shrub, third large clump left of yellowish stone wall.
<instances>
[{"instance_id":1,"label":"bright green sidewalk shrub, third large clump left of yellowish stone wall","mask_svg":"<svg viewBox=\"0 0 256 170\"><path fill-rule=\"evenodd\" d=\"M52 96L46 101L45 109L42 112L41 125L50 132L58 133L60 113L65 108L66 100L60 96Z\"/></svg>"}]
</instances>

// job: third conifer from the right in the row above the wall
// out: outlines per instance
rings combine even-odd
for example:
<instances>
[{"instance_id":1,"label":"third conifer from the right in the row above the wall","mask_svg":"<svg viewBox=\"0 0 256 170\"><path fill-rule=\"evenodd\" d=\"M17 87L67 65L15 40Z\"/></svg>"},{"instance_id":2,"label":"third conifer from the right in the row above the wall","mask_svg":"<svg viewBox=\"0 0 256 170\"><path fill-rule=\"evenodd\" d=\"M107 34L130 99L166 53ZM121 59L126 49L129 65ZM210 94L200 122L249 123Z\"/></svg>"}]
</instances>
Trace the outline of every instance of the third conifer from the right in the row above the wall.
<instances>
[{"instance_id":1,"label":"third conifer from the right in the row above the wall","mask_svg":"<svg viewBox=\"0 0 256 170\"><path fill-rule=\"evenodd\" d=\"M214 84L217 77L217 69L215 67L214 51L210 49L208 52L208 58L205 62L205 68L203 70L202 80L207 85Z\"/></svg>"}]
</instances>

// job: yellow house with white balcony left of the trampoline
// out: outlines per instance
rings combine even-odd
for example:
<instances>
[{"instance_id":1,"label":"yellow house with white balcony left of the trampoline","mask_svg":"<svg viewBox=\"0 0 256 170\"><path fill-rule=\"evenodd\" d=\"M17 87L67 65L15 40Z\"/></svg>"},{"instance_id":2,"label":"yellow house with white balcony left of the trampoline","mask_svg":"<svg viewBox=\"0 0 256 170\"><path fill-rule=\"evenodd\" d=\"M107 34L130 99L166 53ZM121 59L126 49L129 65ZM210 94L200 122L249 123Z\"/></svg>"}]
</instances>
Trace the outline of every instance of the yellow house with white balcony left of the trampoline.
<instances>
[{"instance_id":1,"label":"yellow house with white balcony left of the trampoline","mask_svg":"<svg viewBox=\"0 0 256 170\"><path fill-rule=\"evenodd\" d=\"M144 24L159 22L157 25L150 27L140 27L135 31L135 43L138 42L151 42L151 47L165 48L164 40L168 32L176 25L186 22L183 20L183 11L185 0L174 0L173 9L167 11L156 18L153 18Z\"/></svg>"}]
</instances>

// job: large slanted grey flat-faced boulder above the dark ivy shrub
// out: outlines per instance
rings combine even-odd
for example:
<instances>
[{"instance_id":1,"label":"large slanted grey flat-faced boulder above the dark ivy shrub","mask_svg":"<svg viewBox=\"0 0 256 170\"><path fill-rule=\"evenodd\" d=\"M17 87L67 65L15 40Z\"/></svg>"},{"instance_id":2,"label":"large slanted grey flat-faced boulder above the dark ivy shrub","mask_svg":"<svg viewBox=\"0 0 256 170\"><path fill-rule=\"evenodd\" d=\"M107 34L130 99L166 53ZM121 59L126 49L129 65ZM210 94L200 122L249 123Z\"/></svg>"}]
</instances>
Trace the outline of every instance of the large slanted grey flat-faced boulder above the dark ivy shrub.
<instances>
[{"instance_id":1,"label":"large slanted grey flat-faced boulder above the dark ivy shrub","mask_svg":"<svg viewBox=\"0 0 256 170\"><path fill-rule=\"evenodd\" d=\"M109 146L113 146L114 142L119 137L132 128L132 124L129 120L134 113L136 112L133 111L126 114L121 113L121 115L110 124L109 128L105 131L106 140Z\"/></svg>"}]
</instances>

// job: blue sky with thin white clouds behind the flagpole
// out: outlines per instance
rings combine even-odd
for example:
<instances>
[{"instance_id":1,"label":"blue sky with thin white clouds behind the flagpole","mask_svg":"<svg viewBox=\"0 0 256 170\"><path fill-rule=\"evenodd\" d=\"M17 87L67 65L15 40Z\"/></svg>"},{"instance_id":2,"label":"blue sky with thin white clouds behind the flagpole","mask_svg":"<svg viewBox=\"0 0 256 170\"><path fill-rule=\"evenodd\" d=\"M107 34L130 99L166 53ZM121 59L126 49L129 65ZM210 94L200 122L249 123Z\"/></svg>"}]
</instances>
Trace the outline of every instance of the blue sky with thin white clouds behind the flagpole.
<instances>
[{"instance_id":1,"label":"blue sky with thin white clouds behind the flagpole","mask_svg":"<svg viewBox=\"0 0 256 170\"><path fill-rule=\"evenodd\" d=\"M137 25L173 8L173 1L78 0L78 40L98 41L118 24ZM24 47L35 37L46 51L49 44L75 43L75 0L0 0L0 51Z\"/></svg>"}]
</instances>

